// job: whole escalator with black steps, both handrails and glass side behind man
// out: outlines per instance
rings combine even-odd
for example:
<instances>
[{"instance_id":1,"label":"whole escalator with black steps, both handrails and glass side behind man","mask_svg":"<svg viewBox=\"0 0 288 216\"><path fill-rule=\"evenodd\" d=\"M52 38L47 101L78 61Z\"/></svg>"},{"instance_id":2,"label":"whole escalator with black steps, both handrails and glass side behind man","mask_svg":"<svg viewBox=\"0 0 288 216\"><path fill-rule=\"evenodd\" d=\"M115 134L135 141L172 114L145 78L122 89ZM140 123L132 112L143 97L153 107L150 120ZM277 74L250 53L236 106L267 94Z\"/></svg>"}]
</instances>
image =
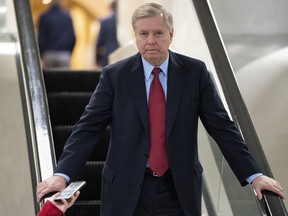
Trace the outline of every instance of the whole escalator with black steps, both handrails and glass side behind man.
<instances>
[{"instance_id":1,"label":"whole escalator with black steps, both handrails and glass side behind man","mask_svg":"<svg viewBox=\"0 0 288 216\"><path fill-rule=\"evenodd\" d=\"M261 143L239 93L209 5L202 0L192 2L207 43L207 52L210 53L215 68L211 73L216 86L231 118L237 123L263 173L272 176L269 164L261 150ZM25 128L31 127L31 131L35 132L35 137L31 138L33 142L27 142L30 150L27 157L30 160L31 182L35 192L36 181L39 182L51 175L51 167L55 166L73 124L79 119L96 87L99 71L47 70L43 72L39 64L29 3L15 0L14 7L19 34L15 43L20 43L22 53L20 55L22 67L18 69L25 77L20 82L22 86L26 86L25 91L30 97L27 98L23 92L19 95L30 105L30 109L22 111L27 116L25 121L33 119L31 125L26 124ZM40 127L39 117L41 117ZM87 181L87 186L83 188L79 200L67 215L99 215L101 169L105 163L108 142L109 128L101 140L101 148L93 152L86 163L81 179ZM201 162L207 171L204 173L203 182L203 215L287 215L285 206L278 196L267 192L260 202L249 186L245 188L239 186L219 150L214 148L213 140L201 125L199 143L201 143L199 147ZM13 203L12 199L11 203ZM39 205L34 203L34 207L37 212Z\"/></svg>"}]
</instances>

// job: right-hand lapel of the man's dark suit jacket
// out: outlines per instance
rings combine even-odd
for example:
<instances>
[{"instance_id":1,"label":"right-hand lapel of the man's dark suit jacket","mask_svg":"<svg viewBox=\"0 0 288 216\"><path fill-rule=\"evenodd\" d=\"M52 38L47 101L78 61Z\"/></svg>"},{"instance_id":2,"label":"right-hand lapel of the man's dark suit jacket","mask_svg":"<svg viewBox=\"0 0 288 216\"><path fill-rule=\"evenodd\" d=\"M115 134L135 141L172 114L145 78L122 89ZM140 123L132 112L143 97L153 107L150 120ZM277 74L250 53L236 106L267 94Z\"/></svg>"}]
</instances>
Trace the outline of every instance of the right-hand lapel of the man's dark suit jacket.
<instances>
[{"instance_id":1,"label":"right-hand lapel of the man's dark suit jacket","mask_svg":"<svg viewBox=\"0 0 288 216\"><path fill-rule=\"evenodd\" d=\"M167 138L171 133L178 113L186 74L185 71L181 70L183 63L173 52L169 53L169 59L167 81Z\"/></svg>"}]
</instances>

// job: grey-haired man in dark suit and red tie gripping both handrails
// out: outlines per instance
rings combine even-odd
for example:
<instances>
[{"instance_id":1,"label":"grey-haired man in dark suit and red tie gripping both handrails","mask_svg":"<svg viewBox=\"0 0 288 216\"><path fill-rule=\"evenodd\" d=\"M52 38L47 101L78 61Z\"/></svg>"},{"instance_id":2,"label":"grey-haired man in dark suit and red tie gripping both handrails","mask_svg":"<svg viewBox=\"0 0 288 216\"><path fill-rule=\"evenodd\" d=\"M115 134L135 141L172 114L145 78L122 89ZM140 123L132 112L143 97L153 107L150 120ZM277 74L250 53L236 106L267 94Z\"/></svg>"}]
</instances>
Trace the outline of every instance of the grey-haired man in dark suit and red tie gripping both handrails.
<instances>
[{"instance_id":1,"label":"grey-haired man in dark suit and red tie gripping both handrails","mask_svg":"<svg viewBox=\"0 0 288 216\"><path fill-rule=\"evenodd\" d=\"M103 68L54 176L37 187L38 200L48 192L63 190L66 181L77 179L89 153L110 125L110 147L102 172L101 215L200 216L203 169L197 147L199 117L242 185L251 183L259 199L264 189L284 198L279 182L262 175L249 154L205 64L169 51L173 38L171 14L158 4L147 3L135 10L132 25L139 53ZM153 70L155 67L158 69ZM164 131L154 128L161 112L156 111L154 119L149 120L154 80L160 80L166 100ZM156 122L158 127L160 121ZM152 140L160 130L159 143L164 141L163 152L167 153L161 172L154 168L150 148L154 148ZM156 166L159 164L162 160Z\"/></svg>"}]
</instances>

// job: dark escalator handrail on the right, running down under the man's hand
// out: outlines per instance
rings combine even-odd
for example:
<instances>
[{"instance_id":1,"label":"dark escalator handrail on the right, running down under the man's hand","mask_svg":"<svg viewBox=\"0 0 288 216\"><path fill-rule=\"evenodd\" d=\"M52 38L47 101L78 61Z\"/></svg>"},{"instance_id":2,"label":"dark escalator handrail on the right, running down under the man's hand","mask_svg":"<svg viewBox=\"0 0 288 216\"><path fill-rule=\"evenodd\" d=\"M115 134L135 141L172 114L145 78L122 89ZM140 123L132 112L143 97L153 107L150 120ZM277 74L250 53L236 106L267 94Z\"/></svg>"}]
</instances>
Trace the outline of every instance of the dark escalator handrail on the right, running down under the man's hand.
<instances>
[{"instance_id":1,"label":"dark escalator handrail on the right, running down under the man's hand","mask_svg":"<svg viewBox=\"0 0 288 216\"><path fill-rule=\"evenodd\" d=\"M193 3L219 77L219 81L223 88L229 111L233 120L241 130L249 150L260 169L265 175L273 177L260 140L250 118L248 109L238 88L232 66L229 62L229 58L218 31L217 24L207 1L208 0L193 0ZM273 194L272 192L265 192L263 200L265 203L261 203L260 206L266 206L269 210L271 210L272 215L288 215L283 204L283 200L278 195ZM270 215L269 213L267 214Z\"/></svg>"}]
</instances>

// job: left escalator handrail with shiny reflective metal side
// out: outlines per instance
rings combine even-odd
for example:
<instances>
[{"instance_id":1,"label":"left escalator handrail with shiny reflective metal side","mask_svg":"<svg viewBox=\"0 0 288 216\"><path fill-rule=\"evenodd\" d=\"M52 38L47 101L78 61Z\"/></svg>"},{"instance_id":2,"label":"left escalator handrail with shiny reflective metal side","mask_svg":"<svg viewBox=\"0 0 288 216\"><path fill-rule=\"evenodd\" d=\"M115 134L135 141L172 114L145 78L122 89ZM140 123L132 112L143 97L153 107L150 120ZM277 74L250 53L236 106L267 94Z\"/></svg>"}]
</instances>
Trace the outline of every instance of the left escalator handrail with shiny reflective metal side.
<instances>
[{"instance_id":1,"label":"left escalator handrail with shiny reflective metal side","mask_svg":"<svg viewBox=\"0 0 288 216\"><path fill-rule=\"evenodd\" d=\"M33 192L36 194L37 183L43 179L43 176L47 177L48 174L52 174L50 170L53 171L56 165L56 159L49 120L48 102L30 2L14 0L13 3L23 70L23 79L19 82L23 82L23 86L26 86L25 91L28 92L27 97L30 97L29 99L25 98L31 107L29 115L32 116L30 130L31 134L33 134L33 142L28 143L28 145L30 145L28 149L31 151L29 152L29 161L33 161L31 164L34 165L31 169L34 169L33 175L35 176L32 176L32 178L36 178L36 181L32 181L32 186L34 189ZM39 155L40 144L42 144L42 146L45 145L45 150L48 149L50 151L50 153L45 152L44 157L43 155ZM45 167L41 167L41 164L42 166L45 165ZM35 209L36 212L39 210L39 205L36 202Z\"/></svg>"}]
</instances>

